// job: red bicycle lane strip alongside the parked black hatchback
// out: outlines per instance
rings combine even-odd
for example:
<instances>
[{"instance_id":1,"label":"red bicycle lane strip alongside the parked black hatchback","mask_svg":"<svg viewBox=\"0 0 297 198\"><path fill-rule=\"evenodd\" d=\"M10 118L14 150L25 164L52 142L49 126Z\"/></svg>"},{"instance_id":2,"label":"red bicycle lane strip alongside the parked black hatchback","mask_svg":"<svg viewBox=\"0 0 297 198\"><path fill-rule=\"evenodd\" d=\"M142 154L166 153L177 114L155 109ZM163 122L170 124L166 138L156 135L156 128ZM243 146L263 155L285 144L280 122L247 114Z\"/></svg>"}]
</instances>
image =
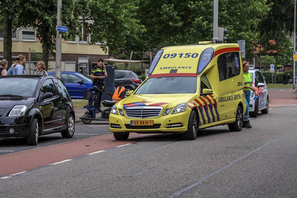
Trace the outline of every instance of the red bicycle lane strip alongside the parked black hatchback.
<instances>
[{"instance_id":1,"label":"red bicycle lane strip alongside the parked black hatchback","mask_svg":"<svg viewBox=\"0 0 297 198\"><path fill-rule=\"evenodd\" d=\"M94 136L68 143L44 146L0 156L0 175L7 176L52 165L67 159L114 148L127 143L135 143L156 134L130 133L128 140L115 140L113 134Z\"/></svg>"}]
</instances>

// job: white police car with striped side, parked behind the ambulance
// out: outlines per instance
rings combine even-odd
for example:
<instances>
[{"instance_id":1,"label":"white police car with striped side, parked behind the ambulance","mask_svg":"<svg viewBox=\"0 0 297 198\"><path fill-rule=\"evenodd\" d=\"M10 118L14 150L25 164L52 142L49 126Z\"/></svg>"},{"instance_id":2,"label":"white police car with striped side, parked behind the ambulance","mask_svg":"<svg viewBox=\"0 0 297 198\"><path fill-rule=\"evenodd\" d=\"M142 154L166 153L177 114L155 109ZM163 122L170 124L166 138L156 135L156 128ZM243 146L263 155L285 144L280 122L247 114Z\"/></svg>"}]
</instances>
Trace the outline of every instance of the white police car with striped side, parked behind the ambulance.
<instances>
[{"instance_id":1,"label":"white police car with striped side, parked behind the ambulance","mask_svg":"<svg viewBox=\"0 0 297 198\"><path fill-rule=\"evenodd\" d=\"M253 87L258 93L258 98L255 99L254 92L251 92L249 116L257 117L259 111L262 114L268 114L268 90L263 74L260 70L254 69L253 65L249 66L249 73L252 75Z\"/></svg>"}]
</instances>

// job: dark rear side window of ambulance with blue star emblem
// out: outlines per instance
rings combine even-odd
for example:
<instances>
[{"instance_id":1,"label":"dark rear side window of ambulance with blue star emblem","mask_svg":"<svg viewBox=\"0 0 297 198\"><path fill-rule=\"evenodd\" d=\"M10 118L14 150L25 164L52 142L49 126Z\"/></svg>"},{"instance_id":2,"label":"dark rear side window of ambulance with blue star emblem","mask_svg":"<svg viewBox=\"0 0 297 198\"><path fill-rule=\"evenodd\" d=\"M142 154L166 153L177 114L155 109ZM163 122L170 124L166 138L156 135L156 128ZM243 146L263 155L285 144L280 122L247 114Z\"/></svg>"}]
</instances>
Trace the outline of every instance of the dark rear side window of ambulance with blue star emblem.
<instances>
[{"instance_id":1,"label":"dark rear side window of ambulance with blue star emblem","mask_svg":"<svg viewBox=\"0 0 297 198\"><path fill-rule=\"evenodd\" d=\"M240 74L239 52L226 52L218 57L220 81L233 78Z\"/></svg>"}]
</instances>

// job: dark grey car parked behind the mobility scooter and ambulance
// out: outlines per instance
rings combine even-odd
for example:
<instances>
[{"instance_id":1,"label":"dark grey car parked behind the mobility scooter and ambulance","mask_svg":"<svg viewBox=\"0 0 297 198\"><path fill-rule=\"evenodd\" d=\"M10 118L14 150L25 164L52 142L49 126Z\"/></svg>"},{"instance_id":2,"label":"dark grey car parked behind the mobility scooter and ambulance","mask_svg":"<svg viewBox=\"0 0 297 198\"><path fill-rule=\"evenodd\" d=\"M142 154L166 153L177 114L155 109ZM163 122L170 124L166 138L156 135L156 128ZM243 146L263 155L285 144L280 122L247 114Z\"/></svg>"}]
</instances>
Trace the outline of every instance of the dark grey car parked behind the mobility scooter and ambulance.
<instances>
[{"instance_id":1,"label":"dark grey car parked behind the mobility scooter and ambulance","mask_svg":"<svg viewBox=\"0 0 297 198\"><path fill-rule=\"evenodd\" d=\"M116 70L114 78L115 86L124 86L127 91L135 90L142 83L141 78L134 71Z\"/></svg>"}]
</instances>

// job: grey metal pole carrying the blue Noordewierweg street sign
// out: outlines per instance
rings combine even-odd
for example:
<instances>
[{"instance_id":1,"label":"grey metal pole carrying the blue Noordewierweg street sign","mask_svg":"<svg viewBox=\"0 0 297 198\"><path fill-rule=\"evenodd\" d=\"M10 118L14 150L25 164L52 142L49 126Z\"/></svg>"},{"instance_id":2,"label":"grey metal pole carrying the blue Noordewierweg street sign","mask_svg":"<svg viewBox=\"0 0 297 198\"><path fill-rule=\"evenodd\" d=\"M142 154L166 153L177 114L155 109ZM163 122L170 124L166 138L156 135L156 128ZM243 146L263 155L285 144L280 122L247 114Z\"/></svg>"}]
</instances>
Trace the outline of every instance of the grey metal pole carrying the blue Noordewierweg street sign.
<instances>
[{"instance_id":1,"label":"grey metal pole carrying the blue Noordewierweg street sign","mask_svg":"<svg viewBox=\"0 0 297 198\"><path fill-rule=\"evenodd\" d=\"M57 25L61 25L62 0L58 0ZM62 34L57 31L56 36L56 77L61 79L61 59L62 59Z\"/></svg>"}]
</instances>

